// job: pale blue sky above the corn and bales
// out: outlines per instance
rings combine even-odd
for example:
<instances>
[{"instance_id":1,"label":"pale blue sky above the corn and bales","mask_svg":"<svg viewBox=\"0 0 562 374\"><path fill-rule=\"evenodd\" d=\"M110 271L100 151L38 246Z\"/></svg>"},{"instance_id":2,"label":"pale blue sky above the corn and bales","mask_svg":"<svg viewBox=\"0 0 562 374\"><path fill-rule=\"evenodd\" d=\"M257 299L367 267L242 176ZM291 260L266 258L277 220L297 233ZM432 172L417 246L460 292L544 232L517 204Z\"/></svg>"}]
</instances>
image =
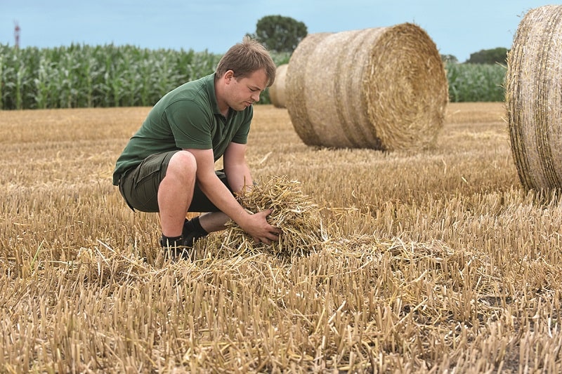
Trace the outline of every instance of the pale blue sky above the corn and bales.
<instances>
[{"instance_id":1,"label":"pale blue sky above the corn and bales","mask_svg":"<svg viewBox=\"0 0 562 374\"><path fill-rule=\"evenodd\" d=\"M539 0L0 0L0 44L50 48L131 44L224 53L265 15L304 22L308 34L412 22L441 54L511 48L523 15Z\"/></svg>"}]
</instances>

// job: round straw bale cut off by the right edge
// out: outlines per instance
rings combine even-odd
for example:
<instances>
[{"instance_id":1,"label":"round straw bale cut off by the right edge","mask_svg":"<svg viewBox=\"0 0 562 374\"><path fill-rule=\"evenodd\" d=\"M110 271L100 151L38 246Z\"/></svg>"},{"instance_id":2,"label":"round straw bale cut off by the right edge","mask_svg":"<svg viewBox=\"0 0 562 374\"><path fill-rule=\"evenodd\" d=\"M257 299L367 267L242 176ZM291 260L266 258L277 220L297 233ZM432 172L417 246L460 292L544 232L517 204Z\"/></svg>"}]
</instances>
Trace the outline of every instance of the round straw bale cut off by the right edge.
<instances>
[{"instance_id":1,"label":"round straw bale cut off by the right edge","mask_svg":"<svg viewBox=\"0 0 562 374\"><path fill-rule=\"evenodd\" d=\"M511 151L526 189L562 187L562 6L525 14L507 58Z\"/></svg>"}]
</instances>

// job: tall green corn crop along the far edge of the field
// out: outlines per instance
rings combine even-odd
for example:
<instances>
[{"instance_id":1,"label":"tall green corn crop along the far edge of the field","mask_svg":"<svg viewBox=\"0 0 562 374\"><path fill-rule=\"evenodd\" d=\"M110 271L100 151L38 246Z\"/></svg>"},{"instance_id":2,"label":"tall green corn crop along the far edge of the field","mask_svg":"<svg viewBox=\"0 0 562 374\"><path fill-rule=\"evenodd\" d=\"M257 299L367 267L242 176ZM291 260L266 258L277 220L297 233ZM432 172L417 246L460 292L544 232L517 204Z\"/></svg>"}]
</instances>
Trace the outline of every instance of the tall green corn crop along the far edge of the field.
<instances>
[{"instance_id":1,"label":"tall green corn crop along the far edge of the field","mask_svg":"<svg viewBox=\"0 0 562 374\"><path fill-rule=\"evenodd\" d=\"M287 53L273 53L277 65ZM0 44L0 109L145 107L214 72L221 55L136 46L13 48ZM447 63L452 102L502 101L505 69ZM270 103L268 92L261 104Z\"/></svg>"}]
</instances>

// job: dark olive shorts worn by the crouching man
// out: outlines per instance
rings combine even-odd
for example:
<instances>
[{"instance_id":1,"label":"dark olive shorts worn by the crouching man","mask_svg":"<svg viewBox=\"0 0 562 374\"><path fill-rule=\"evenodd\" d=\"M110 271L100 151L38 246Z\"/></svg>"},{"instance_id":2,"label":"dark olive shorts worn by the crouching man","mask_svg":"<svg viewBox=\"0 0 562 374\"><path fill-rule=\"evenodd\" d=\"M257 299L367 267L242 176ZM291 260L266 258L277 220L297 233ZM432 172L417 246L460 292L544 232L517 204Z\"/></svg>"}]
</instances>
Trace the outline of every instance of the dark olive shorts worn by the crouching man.
<instances>
[{"instance_id":1,"label":"dark olive shorts worn by the crouching man","mask_svg":"<svg viewBox=\"0 0 562 374\"><path fill-rule=\"evenodd\" d=\"M119 181L119 192L133 211L135 209L148 213L159 211L158 187L166 175L171 156L174 156L176 152L178 151L152 154L144 159L139 166L127 171L122 176ZM232 192L226 180L226 174L223 171L216 171L215 173ZM219 209L214 206L214 203L211 203L195 183L195 191L188 212L218 211Z\"/></svg>"}]
</instances>

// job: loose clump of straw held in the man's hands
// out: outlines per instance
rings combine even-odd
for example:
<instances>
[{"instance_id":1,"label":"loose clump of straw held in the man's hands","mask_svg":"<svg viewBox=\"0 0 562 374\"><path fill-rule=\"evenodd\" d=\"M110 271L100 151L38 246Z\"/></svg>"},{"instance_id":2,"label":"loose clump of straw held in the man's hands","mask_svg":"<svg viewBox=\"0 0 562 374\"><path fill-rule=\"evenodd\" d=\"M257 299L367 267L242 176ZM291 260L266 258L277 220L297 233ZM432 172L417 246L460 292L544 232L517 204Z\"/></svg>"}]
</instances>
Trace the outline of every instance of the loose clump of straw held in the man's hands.
<instances>
[{"instance_id":1,"label":"loose clump of straw held in the man's hands","mask_svg":"<svg viewBox=\"0 0 562 374\"><path fill-rule=\"evenodd\" d=\"M234 221L226 224L223 248L234 255L270 253L278 256L308 255L327 240L322 227L320 210L309 196L298 188L299 182L285 177L272 177L237 195L237 200L248 213L273 209L268 222L282 231L278 242L269 245L254 243Z\"/></svg>"}]
</instances>

